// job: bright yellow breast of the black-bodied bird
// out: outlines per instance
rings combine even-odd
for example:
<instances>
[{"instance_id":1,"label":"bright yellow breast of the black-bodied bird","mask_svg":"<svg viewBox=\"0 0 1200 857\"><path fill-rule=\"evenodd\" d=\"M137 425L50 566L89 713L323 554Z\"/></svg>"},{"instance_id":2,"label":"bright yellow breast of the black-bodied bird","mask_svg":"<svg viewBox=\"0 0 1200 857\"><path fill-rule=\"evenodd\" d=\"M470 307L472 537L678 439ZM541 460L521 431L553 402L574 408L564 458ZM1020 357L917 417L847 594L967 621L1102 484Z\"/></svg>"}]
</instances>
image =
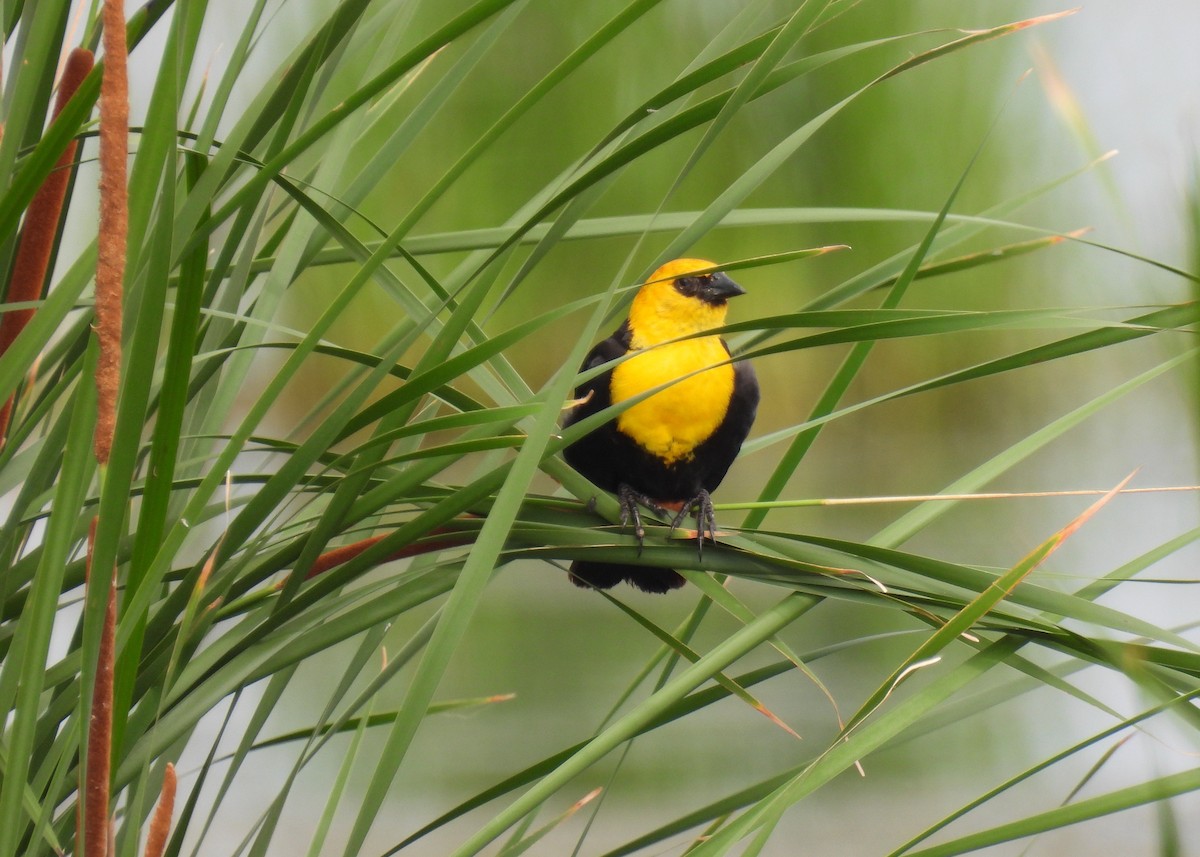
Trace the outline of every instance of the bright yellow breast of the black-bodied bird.
<instances>
[{"instance_id":1,"label":"bright yellow breast of the black-bodied bird","mask_svg":"<svg viewBox=\"0 0 1200 857\"><path fill-rule=\"evenodd\" d=\"M716 336L653 348L612 371L612 401L622 402L727 359ZM617 428L671 465L690 459L696 447L716 431L732 395L733 366L726 364L638 402L617 418Z\"/></svg>"}]
</instances>

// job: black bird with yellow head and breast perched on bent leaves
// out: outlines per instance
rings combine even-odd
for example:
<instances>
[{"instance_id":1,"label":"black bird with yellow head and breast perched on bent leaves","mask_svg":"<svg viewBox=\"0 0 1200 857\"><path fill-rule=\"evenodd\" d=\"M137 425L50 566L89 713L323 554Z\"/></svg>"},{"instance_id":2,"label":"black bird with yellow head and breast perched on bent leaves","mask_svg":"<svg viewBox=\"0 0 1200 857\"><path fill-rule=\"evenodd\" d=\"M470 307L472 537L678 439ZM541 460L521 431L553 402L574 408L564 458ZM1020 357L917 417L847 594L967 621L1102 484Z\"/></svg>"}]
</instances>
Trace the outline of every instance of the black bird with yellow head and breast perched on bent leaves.
<instances>
[{"instance_id":1,"label":"black bird with yellow head and breast perched on bent leaves","mask_svg":"<svg viewBox=\"0 0 1200 857\"><path fill-rule=\"evenodd\" d=\"M708 492L725 478L758 408L758 380L750 364L715 365L730 358L721 337L679 340L719 328L725 323L726 301L745 294L725 274L695 272L713 268L703 259L676 259L656 270L634 298L629 318L592 349L583 370L631 350L637 355L581 384L575 391L580 403L566 414L565 425L571 425L682 378L563 450L571 467L617 493L622 523L632 521L638 541L646 534L638 504L659 514L677 511L672 529L694 511L700 523L697 547L703 546L706 532L715 538ZM646 592L667 592L684 583L671 569L571 564L571 581L577 586L607 589L623 580Z\"/></svg>"}]
</instances>

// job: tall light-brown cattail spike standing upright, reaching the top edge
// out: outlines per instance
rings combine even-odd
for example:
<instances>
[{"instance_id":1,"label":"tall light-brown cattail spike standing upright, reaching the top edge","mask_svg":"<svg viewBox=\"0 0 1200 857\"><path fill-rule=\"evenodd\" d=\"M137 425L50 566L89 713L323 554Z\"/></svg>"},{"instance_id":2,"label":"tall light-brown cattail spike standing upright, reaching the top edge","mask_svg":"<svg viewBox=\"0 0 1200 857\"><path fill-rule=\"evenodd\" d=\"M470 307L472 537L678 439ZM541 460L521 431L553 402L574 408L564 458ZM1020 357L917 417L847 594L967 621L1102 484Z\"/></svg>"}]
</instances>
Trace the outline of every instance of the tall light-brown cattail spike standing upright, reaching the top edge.
<instances>
[{"instance_id":1,"label":"tall light-brown cattail spike standing upright, reaching the top edge","mask_svg":"<svg viewBox=\"0 0 1200 857\"><path fill-rule=\"evenodd\" d=\"M130 228L126 158L130 85L126 68L125 2L104 0L104 77L100 86L100 234L96 257L96 461L108 463L121 383L121 298L125 242Z\"/></svg>"}]
</instances>

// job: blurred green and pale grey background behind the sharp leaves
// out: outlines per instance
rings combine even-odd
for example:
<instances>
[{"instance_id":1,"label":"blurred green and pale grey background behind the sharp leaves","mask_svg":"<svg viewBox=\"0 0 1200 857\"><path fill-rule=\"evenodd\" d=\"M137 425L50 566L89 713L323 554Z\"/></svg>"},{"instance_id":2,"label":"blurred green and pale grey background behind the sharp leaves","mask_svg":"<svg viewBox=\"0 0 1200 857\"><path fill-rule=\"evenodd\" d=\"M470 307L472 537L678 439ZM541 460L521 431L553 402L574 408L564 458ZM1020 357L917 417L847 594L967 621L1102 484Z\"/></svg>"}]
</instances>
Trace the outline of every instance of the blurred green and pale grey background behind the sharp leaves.
<instances>
[{"instance_id":1,"label":"blurred green and pale grey background behind the sharp leaves","mask_svg":"<svg viewBox=\"0 0 1200 857\"><path fill-rule=\"evenodd\" d=\"M311 5L325 10L332 4ZM428 31L432 23L449 17L452 6L418 5L410 31ZM355 233L364 239L377 238L368 221L391 228L520 94L623 6L612 0L529 2L484 59L481 73L449 100L388 181L361 206L362 218L352 221ZM756 22L774 20L784 6L761 4L761 16L740 20L752 31ZM839 18L802 43L804 53L918 30L994 26L1063 8L1050 2L1007 0L864 0L845 6ZM512 218L548 176L566 169L628 110L671 82L696 55L697 46L739 20L745 8L746 4L734 0L662 4L509 131L420 221L415 233L487 228ZM316 11L288 0L265 35L262 53L270 56L290 49L307 29L304 22L311 18L316 18ZM389 30L394 22L380 17L377 23L378 38L395 37ZM1117 157L1038 198L1013 220L1062 232L1091 227L1088 238L1099 242L1188 268L1195 233L1187 200L1200 133L1196 32L1200 6L1190 0L1160 0L1150 6L1099 0L1075 16L930 64L860 98L822 128L743 208L936 211L986 138L954 205L955 212L976 214L1076 170L1104 151L1120 149ZM206 44L214 67L220 67L222 44L229 38L229 34L206 34L202 53ZM930 36L882 44L748 106L697 169L671 192L679 166L702 133L692 132L624 172L589 216L703 208L816 112L937 41ZM397 97L418 103L437 85L437 67L450 67L463 49L449 47L434 60L431 73L418 77L410 91ZM364 52L356 61L371 60ZM1026 76L1031 68L1033 73ZM330 95L330 103L336 95ZM796 311L834 284L916 244L925 228L926 221L839 220L724 228L694 247L692 253L728 260L808 246L851 245L850 251L815 260L743 271L738 280L749 295L734 305L732 313L733 320L740 320ZM602 290L613 277L632 283L671 236L670 232L652 233L640 244L636 238L559 244L481 322L490 331L502 330L550 305ZM980 246L1030 236L1016 230L995 232ZM523 251L516 254L506 269L509 275L518 270L523 256ZM422 262L444 276L463 258L463 253L445 253L424 257ZM325 296L349 275L346 266L311 270L288 294L286 323L306 328L322 311ZM1066 244L962 275L922 281L910 292L905 306L1070 307L1153 304L1186 296L1186 283L1178 277L1111 252ZM869 295L860 305L874 306L877 300ZM389 330L389 313L395 307L377 293L365 293L359 302L358 312L347 314L331 338L367 348ZM534 389L562 362L582 323L582 316L570 317L535 344L523 343L511 354ZM1054 331L1042 335L996 330L881 342L851 389L851 398L869 398L1052 336ZM1159 362L1164 349L1184 344L1182 334L1176 340L1151 337L1103 354L954 385L839 419L821 435L785 497L936 492L1139 368ZM764 401L755 436L803 421L845 353L845 348L830 347L760 360L756 368ZM264 377L270 370L270 362L264 360ZM316 394L340 371L332 360L313 361L306 376L311 384L294 385L314 394L310 398L298 395L290 402L296 418L307 412ZM1194 483L1195 398L1194 385L1187 382L1176 373L1121 400L989 489L1106 489L1138 468L1139 486ZM289 415L281 412L277 419L286 425ZM743 457L721 486L718 502L754 499L778 455L779 449L772 448ZM546 480L541 489L550 492L553 485ZM964 503L906 549L954 562L1008 568L1088 502L1068 497ZM772 513L768 528L866 540L907 508L875 504L780 510ZM740 515L726 511L720 520L737 523ZM1086 538L1068 544L1043 567L1038 579L1050 586L1056 581L1074 586L1195 523L1196 504L1192 499L1162 495L1122 498ZM1156 577L1169 576L1171 570L1180 579L1194 576L1195 558L1195 549L1183 551ZM737 581L732 586L750 604L766 603L756 586ZM1122 587L1120 592L1122 599L1141 601L1126 600L1124 610L1153 616L1166 625L1194 617L1194 605L1180 603L1168 585ZM628 598L671 628L688 613L696 594L685 591L670 598ZM403 627L397 625L391 639L407 639L419 618L404 617ZM706 640L720 640L733 628L732 621L715 613L709 622L712 625L696 641L696 648L702 651ZM786 639L803 653L889 630L917 628L896 612L830 603L790 629ZM845 713L853 711L884 675L884 661L877 659L911 649L914 640L911 634L898 636L817 660L812 667ZM515 694L515 699L470 713L431 718L425 724L394 790L390 815L395 823L390 829L377 826L365 853L384 851L512 769L590 735L607 714L604 706L619 695L655 648L656 642L626 617L593 593L569 586L564 575L550 565L522 562L504 568L439 695ZM340 663L334 653L304 670L312 685L324 687ZM295 682L293 688L304 684ZM1099 672L1090 690L1102 697L1115 696L1110 700L1115 703L1126 701L1122 695L1130 693L1127 687L1115 689ZM319 706L318 699L308 703L296 695L290 705L278 706L278 720L272 720L266 733L311 723L310 705ZM836 733L829 702L811 684L794 679L768 684L762 699L805 739L811 738L814 747ZM1103 726L1093 711L1043 689L997 703L988 715L941 729L932 739L906 742L872 759L865 779L846 774L794 809L764 853L882 853L887 844L902 841L905 834L941 817L986 784L1024 771L1060 748L1063 741L1057 730L1064 723L1079 730ZM368 741L374 738L368 736ZM1100 772L1097 783L1111 786L1122 783L1123 775L1141 777L1192 765L1184 751L1195 748L1175 741L1187 739L1162 730L1139 735ZM600 853L604 845L616 845L662 819L797 763L809 753L804 743L797 744L736 701L668 727L654 742L635 743L613 781L606 781L605 771L593 771L577 784L578 797L606 786L605 803L584 852ZM306 805L308 798L296 793L288 807L290 817L300 822L295 825L296 847L304 845L305 819L320 811L323 784L334 775L336 748L342 745L335 742L324 765L306 771L311 803ZM698 745L704 747L703 753L695 751ZM256 766L264 784L272 783L272 753L265 753ZM287 750L278 753L290 757ZM960 765L959 759L970 762ZM1080 760L1034 780L1018 799L1055 805L1085 774L1086 763ZM616 765L608 766L608 771L614 769ZM244 780L241 787L252 795L259 786ZM997 802L984 809L974 823L998 823L1013 805ZM1200 802L1183 799L1176 805L1183 841L1200 840L1200 814L1195 811ZM1153 813L1126 813L1067 828L1036 840L1028 851L1019 844L988 853L1146 853L1146 829L1153 825ZM241 837L239 821L248 825L256 814L247 801L245 819L229 817L230 841ZM538 846L536 853L570 853L581 823L556 832ZM443 853L469 827L470 816L404 853ZM335 840L336 833L335 827ZM284 845L282 835L276 844Z\"/></svg>"}]
</instances>

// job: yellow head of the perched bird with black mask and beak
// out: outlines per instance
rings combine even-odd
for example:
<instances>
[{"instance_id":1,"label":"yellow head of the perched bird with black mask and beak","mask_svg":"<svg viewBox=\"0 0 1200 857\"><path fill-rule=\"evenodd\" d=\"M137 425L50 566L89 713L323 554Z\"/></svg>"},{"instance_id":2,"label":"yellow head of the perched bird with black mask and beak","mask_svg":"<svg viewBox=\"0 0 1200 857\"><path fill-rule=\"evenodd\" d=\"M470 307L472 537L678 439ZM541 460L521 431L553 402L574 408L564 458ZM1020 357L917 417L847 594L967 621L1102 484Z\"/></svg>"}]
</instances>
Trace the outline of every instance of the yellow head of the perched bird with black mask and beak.
<instances>
[{"instance_id":1,"label":"yellow head of the perched bird with black mask and beak","mask_svg":"<svg viewBox=\"0 0 1200 857\"><path fill-rule=\"evenodd\" d=\"M668 262L646 281L629 308L634 348L648 348L725 324L726 301L745 289L704 259ZM709 271L696 274L696 271Z\"/></svg>"}]
</instances>

